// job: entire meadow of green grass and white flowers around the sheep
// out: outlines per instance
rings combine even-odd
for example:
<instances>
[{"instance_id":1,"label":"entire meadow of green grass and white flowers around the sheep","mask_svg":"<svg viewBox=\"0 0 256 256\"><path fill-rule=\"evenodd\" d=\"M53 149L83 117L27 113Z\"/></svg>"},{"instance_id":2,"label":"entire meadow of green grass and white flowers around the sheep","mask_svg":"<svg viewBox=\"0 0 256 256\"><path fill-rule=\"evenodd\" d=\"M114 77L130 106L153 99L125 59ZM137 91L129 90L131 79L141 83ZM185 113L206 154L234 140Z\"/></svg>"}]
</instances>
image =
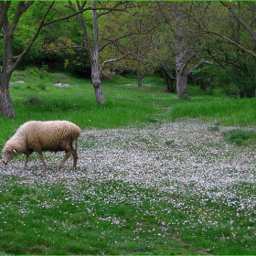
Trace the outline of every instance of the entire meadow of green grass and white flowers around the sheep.
<instances>
[{"instance_id":1,"label":"entire meadow of green grass and white flowers around the sheep","mask_svg":"<svg viewBox=\"0 0 256 256\"><path fill-rule=\"evenodd\" d=\"M82 134L77 170L59 171L61 153L45 153L47 170L37 154L24 171L24 155L0 166L1 254L256 253L255 99L190 86L177 100L157 76L142 88L116 76L99 105L90 80L28 69L11 81L1 148L28 120Z\"/></svg>"}]
</instances>

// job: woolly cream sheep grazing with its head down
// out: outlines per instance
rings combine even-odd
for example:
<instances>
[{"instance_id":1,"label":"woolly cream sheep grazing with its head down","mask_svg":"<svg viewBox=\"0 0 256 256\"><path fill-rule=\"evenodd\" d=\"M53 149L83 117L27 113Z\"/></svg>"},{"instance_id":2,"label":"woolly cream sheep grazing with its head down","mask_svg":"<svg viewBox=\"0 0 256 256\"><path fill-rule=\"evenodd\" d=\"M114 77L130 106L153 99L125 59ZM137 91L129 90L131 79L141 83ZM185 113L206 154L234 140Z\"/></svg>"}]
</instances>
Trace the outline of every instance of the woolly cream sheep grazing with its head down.
<instances>
[{"instance_id":1,"label":"woolly cream sheep grazing with its head down","mask_svg":"<svg viewBox=\"0 0 256 256\"><path fill-rule=\"evenodd\" d=\"M6 142L3 148L3 164L7 165L16 155L26 155L24 169L27 167L28 157L34 151L40 156L40 159L47 167L43 151L65 151L66 155L59 165L63 167L69 155L73 155L73 166L77 167L77 139L80 136L80 127L69 121L30 121L22 124L16 133ZM76 140L76 149L72 144Z\"/></svg>"}]
</instances>

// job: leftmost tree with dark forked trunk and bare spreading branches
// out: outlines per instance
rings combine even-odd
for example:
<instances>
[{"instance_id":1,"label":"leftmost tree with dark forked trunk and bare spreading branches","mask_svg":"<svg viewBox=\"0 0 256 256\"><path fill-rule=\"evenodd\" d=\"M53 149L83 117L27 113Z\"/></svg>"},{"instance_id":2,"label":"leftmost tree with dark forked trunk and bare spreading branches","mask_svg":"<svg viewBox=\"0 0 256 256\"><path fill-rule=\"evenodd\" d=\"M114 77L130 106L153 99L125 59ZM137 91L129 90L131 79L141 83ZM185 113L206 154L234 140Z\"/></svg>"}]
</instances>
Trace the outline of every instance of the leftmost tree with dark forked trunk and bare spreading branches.
<instances>
[{"instance_id":1,"label":"leftmost tree with dark forked trunk and bare spreading branches","mask_svg":"<svg viewBox=\"0 0 256 256\"><path fill-rule=\"evenodd\" d=\"M23 16L27 9L33 4L40 5L41 11L41 16L38 19L39 21L37 24L37 29L34 35L27 40L27 45L22 50L22 52L16 56L13 56L13 43L16 36L16 28L20 23L21 16ZM55 2L0 2L0 28L3 33L2 35L0 35L0 37L3 37L4 49L2 69L0 71L0 110L2 115L7 118L16 118L15 110L9 93L9 81L11 75L16 67L20 64L21 60L24 59L29 49L32 48L41 29L52 23L64 19L69 19L72 16L78 15L78 13L74 13L71 15L61 16L59 18L47 21L48 13L50 12L50 10L52 10L54 4Z\"/></svg>"}]
</instances>

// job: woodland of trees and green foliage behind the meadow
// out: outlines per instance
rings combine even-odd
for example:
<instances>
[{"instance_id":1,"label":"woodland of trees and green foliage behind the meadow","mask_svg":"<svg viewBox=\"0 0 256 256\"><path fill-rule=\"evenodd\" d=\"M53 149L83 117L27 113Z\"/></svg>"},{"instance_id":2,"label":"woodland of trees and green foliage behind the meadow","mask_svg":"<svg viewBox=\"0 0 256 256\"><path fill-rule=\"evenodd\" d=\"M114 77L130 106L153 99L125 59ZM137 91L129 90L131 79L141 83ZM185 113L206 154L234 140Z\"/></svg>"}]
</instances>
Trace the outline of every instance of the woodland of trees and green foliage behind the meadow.
<instances>
[{"instance_id":1,"label":"woodland of trees and green foliage behind the meadow","mask_svg":"<svg viewBox=\"0 0 256 256\"><path fill-rule=\"evenodd\" d=\"M187 98L187 80L255 97L254 2L1 2L1 112L16 118L9 93L14 70L37 67L101 79L158 72L166 89Z\"/></svg>"}]
</instances>

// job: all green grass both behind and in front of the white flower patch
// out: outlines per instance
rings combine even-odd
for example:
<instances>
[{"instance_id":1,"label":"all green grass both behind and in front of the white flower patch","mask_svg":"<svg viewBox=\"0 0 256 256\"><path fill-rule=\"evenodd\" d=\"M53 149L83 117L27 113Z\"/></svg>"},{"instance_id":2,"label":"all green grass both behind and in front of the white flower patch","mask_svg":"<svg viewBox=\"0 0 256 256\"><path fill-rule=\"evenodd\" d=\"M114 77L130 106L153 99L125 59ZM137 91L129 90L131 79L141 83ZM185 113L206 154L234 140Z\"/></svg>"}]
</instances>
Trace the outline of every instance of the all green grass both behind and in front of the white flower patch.
<instances>
[{"instance_id":1,"label":"all green grass both behind and in front of the white flower patch","mask_svg":"<svg viewBox=\"0 0 256 256\"><path fill-rule=\"evenodd\" d=\"M16 120L0 117L0 145L29 120L69 120L81 129L123 126L143 127L145 123L175 122L197 118L219 125L256 124L256 99L229 99L216 90L213 95L188 87L189 99L177 100L165 92L163 80L144 78L142 88L134 77L116 76L103 81L105 105L95 102L90 80L67 74L43 79L28 71L16 71L11 96ZM56 88L55 82L70 88ZM37 101L25 104L34 98ZM252 135L251 135L252 134ZM255 133L225 133L229 141L254 144ZM141 142L148 144L144 138ZM171 148L175 140L166 138ZM54 170L52 170L54 173ZM33 170L32 170L33 172ZM86 170L85 170L86 174ZM42 176L44 178L44 176ZM18 180L18 183L17 183ZM255 195L255 186L241 185L241 195ZM3 176L0 187L0 253L12 254L255 254L255 214L204 197L181 198L157 194L154 189L122 182L105 182L97 187L86 178L67 189L38 184L24 185L22 178ZM93 188L93 193L88 193ZM187 188L188 189L188 188ZM112 195L120 197L112 198ZM133 202L127 198L133 198ZM138 199L136 201L136 199ZM169 200L184 202L170 208ZM217 209L229 216L218 216ZM238 217L238 214L242 218ZM193 219L193 221L192 221ZM222 222L219 222L222 219ZM254 220L253 220L254 219ZM231 222L230 222L231 221ZM192 227L192 228L191 228ZM251 227L254 227L251 229ZM254 232L254 233L253 233Z\"/></svg>"}]
</instances>

